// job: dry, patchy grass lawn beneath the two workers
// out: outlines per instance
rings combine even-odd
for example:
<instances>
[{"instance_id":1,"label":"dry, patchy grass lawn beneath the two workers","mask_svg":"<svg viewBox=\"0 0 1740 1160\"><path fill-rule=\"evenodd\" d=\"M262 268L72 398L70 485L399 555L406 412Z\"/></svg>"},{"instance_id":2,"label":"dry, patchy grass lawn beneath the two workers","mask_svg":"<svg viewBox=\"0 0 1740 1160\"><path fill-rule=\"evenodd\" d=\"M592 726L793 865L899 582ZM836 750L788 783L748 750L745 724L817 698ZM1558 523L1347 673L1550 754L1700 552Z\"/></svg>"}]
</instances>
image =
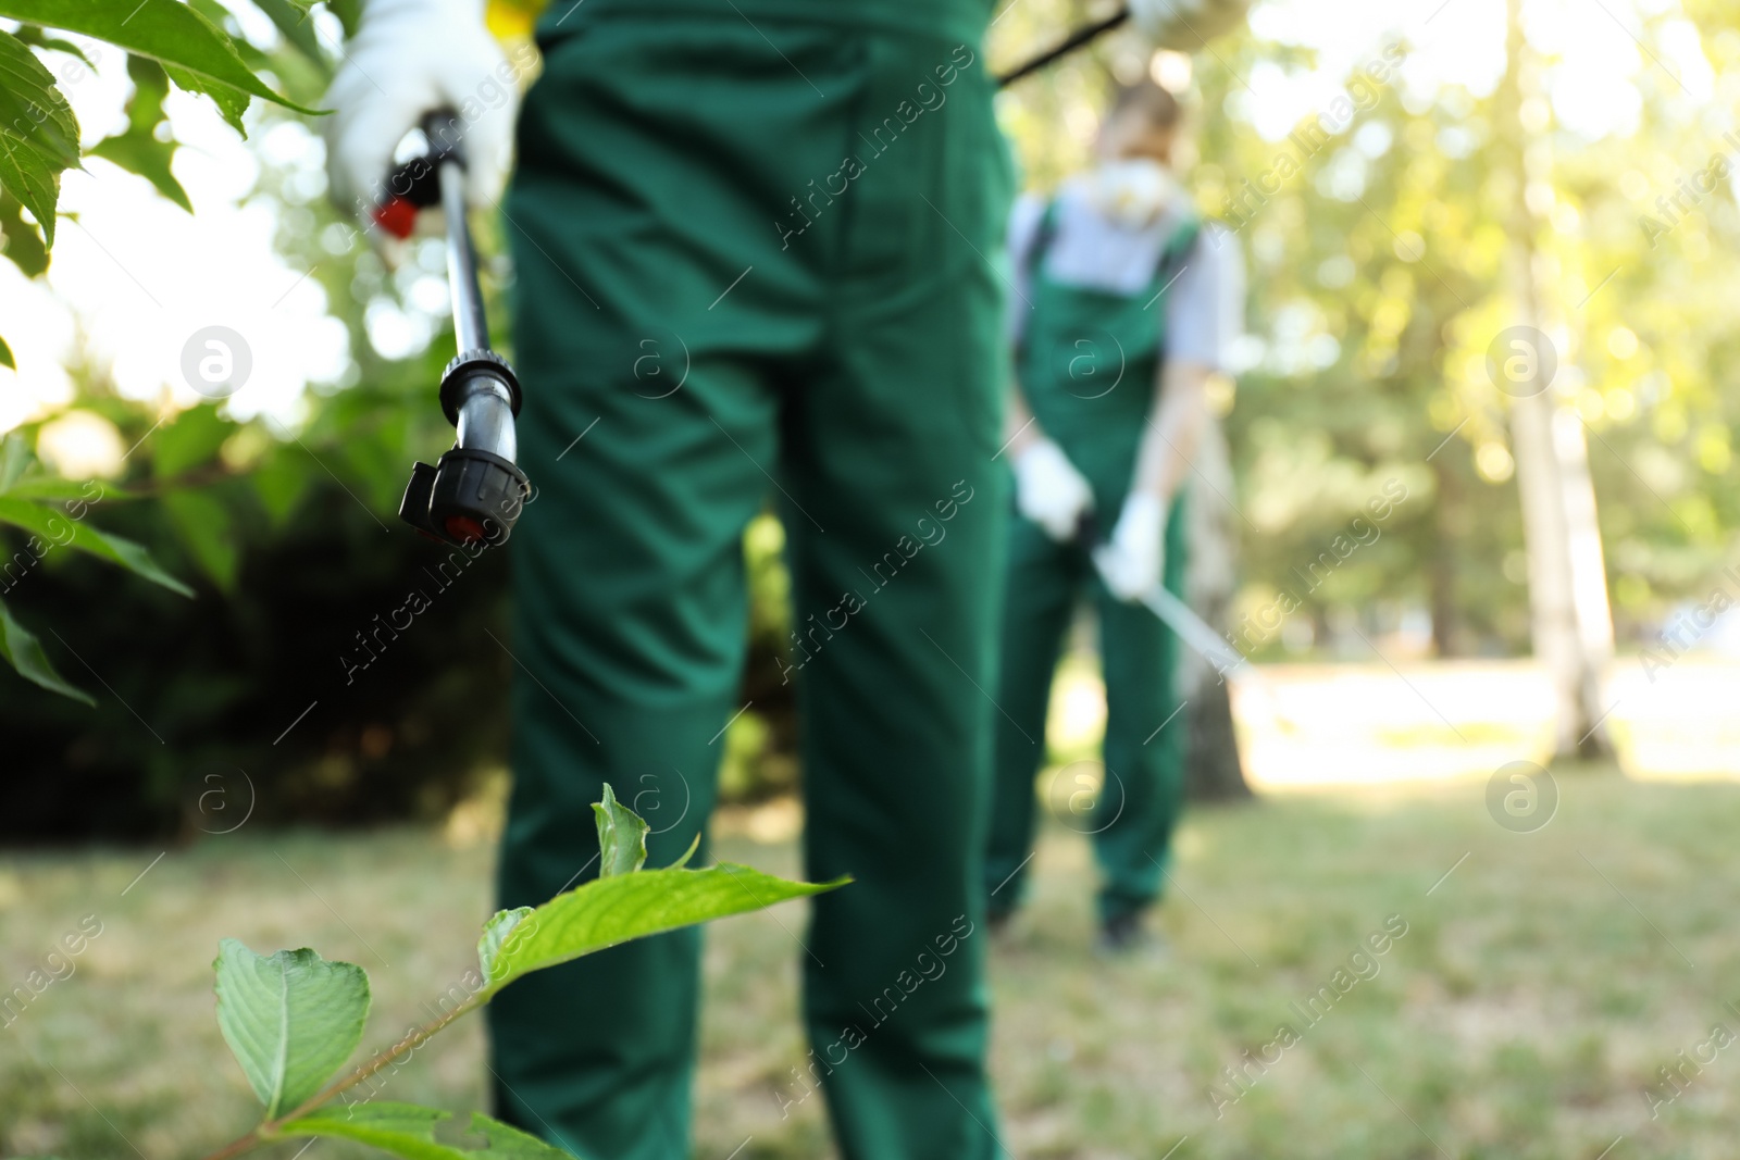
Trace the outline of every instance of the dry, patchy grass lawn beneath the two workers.
<instances>
[{"instance_id":1,"label":"dry, patchy grass lawn beneath the two workers","mask_svg":"<svg viewBox=\"0 0 1740 1160\"><path fill-rule=\"evenodd\" d=\"M1495 824L1484 781L1194 810L1166 962L1086 953L1089 852L1053 828L1032 906L994 948L999 1136L1023 1160L1735 1157L1740 786L1557 777L1559 812L1531 835ZM795 873L769 826L722 830L722 856ZM157 856L0 859L5 990L101 923L0 1030L0 1155L171 1160L224 1143L254 1099L212 1016L218 939L365 965L365 1043L383 1045L472 962L492 857L409 830L242 830ZM804 1054L800 922L793 904L710 934L701 1160L832 1155L820 1101L781 1118L774 1097ZM1402 923L1383 955L1355 957ZM1223 1068L1246 1050L1270 1063L1239 1087ZM477 1108L480 1056L472 1021L381 1097ZM1672 1097L1653 1117L1651 1087Z\"/></svg>"}]
</instances>

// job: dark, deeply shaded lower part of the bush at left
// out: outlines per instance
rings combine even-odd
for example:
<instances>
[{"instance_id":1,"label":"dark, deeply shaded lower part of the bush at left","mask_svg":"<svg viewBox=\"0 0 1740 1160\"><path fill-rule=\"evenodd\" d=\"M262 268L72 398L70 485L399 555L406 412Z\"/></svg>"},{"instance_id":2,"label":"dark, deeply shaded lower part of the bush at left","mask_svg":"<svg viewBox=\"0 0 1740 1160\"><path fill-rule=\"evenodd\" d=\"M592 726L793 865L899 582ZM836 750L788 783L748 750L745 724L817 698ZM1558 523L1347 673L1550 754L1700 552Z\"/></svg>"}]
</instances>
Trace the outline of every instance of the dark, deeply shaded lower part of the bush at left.
<instances>
[{"instance_id":1,"label":"dark, deeply shaded lower part of the bush at left","mask_svg":"<svg viewBox=\"0 0 1740 1160\"><path fill-rule=\"evenodd\" d=\"M195 574L162 504L104 520ZM512 661L491 638L508 638L499 553L449 565L459 576L438 588L425 569L449 553L409 530L383 534L331 482L237 551L235 584L202 579L195 600L66 553L16 584L17 616L52 626L63 673L97 704L3 677L0 730L19 776L0 838L223 831L251 809L325 824L430 817L503 758ZM397 637L381 631L374 617L392 617L411 586L430 607ZM351 668L367 659L357 633L386 642L365 668Z\"/></svg>"}]
</instances>

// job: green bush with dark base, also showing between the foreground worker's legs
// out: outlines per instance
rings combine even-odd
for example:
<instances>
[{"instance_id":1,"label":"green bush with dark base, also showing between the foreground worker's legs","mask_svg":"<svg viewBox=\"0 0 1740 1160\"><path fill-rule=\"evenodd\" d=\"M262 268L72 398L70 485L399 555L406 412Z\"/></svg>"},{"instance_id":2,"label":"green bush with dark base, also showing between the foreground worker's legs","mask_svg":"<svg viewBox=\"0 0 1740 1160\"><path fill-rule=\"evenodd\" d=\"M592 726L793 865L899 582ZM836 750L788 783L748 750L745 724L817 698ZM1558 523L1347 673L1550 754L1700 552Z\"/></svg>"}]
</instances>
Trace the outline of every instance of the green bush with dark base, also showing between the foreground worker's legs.
<instances>
[{"instance_id":1,"label":"green bush with dark base, also showing between the foreground worker's legs","mask_svg":"<svg viewBox=\"0 0 1740 1160\"><path fill-rule=\"evenodd\" d=\"M405 391L423 370L405 369ZM444 428L433 405L414 412L383 398L388 390L398 388L324 400L301 443L270 442L211 407L183 412L141 443L127 478L85 485L103 496L85 518L191 581L191 600L64 550L0 579L17 621L96 701L0 671L0 730L21 774L0 840L195 837L244 816L327 826L437 819L506 762L517 675L505 650L506 557L468 558L392 515L397 473L419 454L412 445ZM379 416L395 407L430 430L383 431ZM129 407L96 409L125 424L129 443L146 433ZM224 459L238 445L258 457L231 470ZM186 468L200 447L218 450ZM3 534L0 544L7 558L23 548ZM755 522L745 551L752 706L727 736L726 800L797 784L793 690L774 659L786 574L773 517ZM395 631L412 590L428 607Z\"/></svg>"}]
</instances>

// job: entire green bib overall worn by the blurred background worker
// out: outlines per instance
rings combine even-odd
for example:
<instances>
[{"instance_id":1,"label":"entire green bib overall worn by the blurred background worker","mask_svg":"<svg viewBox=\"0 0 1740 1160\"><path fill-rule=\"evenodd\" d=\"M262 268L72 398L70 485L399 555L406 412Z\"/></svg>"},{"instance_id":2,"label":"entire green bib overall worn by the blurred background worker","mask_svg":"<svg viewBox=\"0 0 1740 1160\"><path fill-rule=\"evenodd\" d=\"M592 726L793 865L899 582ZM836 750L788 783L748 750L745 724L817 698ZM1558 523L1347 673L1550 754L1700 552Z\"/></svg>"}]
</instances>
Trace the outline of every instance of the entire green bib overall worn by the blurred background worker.
<instances>
[{"instance_id":1,"label":"entire green bib overall worn by the blurred background worker","mask_svg":"<svg viewBox=\"0 0 1740 1160\"><path fill-rule=\"evenodd\" d=\"M1028 259L1027 325L1016 381L1041 430L1093 487L1094 522L1110 534L1129 490L1154 403L1164 346L1164 292L1197 237L1187 221L1168 242L1150 283L1133 296L1063 285L1046 275L1056 205L1046 209ZM1023 310L1016 304L1016 310ZM1183 492L1166 522L1164 584L1185 579ZM1112 597L1082 544L1060 544L1016 517L1007 550L997 760L985 859L992 911L1014 910L1034 843L1034 777L1046 758L1046 710L1063 633L1082 591L1100 619L1107 725L1103 786L1081 793L1086 769L1060 770L1046 788L1058 819L1093 837L1103 873L1100 917L1141 910L1161 894L1168 843L1183 798L1183 718L1173 689L1178 638L1147 607ZM1162 727L1164 723L1164 727Z\"/></svg>"}]
</instances>

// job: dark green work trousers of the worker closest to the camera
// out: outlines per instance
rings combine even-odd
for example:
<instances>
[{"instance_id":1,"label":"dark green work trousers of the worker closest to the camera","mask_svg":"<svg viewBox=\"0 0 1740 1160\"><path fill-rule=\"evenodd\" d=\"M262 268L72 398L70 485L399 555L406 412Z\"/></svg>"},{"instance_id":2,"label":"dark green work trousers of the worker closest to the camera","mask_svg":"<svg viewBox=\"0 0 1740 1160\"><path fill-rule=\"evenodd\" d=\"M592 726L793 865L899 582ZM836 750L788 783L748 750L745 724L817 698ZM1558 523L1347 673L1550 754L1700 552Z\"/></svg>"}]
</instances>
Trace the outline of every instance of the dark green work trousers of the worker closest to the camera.
<instances>
[{"instance_id":1,"label":"dark green work trousers of the worker closest to the camera","mask_svg":"<svg viewBox=\"0 0 1740 1160\"><path fill-rule=\"evenodd\" d=\"M799 1073L849 1160L988 1160L992 82L936 31L597 7L546 28L505 207L536 496L512 543L501 904L595 875L604 783L651 824L649 864L703 831L743 708L741 534L774 501L806 873L856 878L793 925ZM699 955L687 929L503 991L498 1113L581 1157L689 1157Z\"/></svg>"}]
</instances>

